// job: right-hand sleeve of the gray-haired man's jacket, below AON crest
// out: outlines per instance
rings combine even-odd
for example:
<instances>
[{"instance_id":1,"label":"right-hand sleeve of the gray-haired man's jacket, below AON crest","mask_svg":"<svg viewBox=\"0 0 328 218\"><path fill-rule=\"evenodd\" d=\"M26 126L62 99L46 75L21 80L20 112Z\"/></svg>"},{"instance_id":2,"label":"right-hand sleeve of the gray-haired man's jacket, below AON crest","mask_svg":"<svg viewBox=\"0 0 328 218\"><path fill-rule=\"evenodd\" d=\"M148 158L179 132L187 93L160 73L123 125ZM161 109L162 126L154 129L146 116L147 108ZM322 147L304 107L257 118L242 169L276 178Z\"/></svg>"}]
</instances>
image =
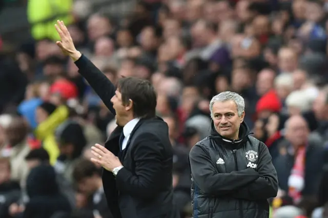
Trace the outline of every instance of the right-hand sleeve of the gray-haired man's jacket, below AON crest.
<instances>
[{"instance_id":1,"label":"right-hand sleeve of the gray-haired man's jacket, below AON crest","mask_svg":"<svg viewBox=\"0 0 328 218\"><path fill-rule=\"evenodd\" d=\"M259 162L257 172L260 177L237 190L233 197L249 201L265 200L277 196L278 177L274 168L269 149L264 143L260 143Z\"/></svg>"}]
</instances>

